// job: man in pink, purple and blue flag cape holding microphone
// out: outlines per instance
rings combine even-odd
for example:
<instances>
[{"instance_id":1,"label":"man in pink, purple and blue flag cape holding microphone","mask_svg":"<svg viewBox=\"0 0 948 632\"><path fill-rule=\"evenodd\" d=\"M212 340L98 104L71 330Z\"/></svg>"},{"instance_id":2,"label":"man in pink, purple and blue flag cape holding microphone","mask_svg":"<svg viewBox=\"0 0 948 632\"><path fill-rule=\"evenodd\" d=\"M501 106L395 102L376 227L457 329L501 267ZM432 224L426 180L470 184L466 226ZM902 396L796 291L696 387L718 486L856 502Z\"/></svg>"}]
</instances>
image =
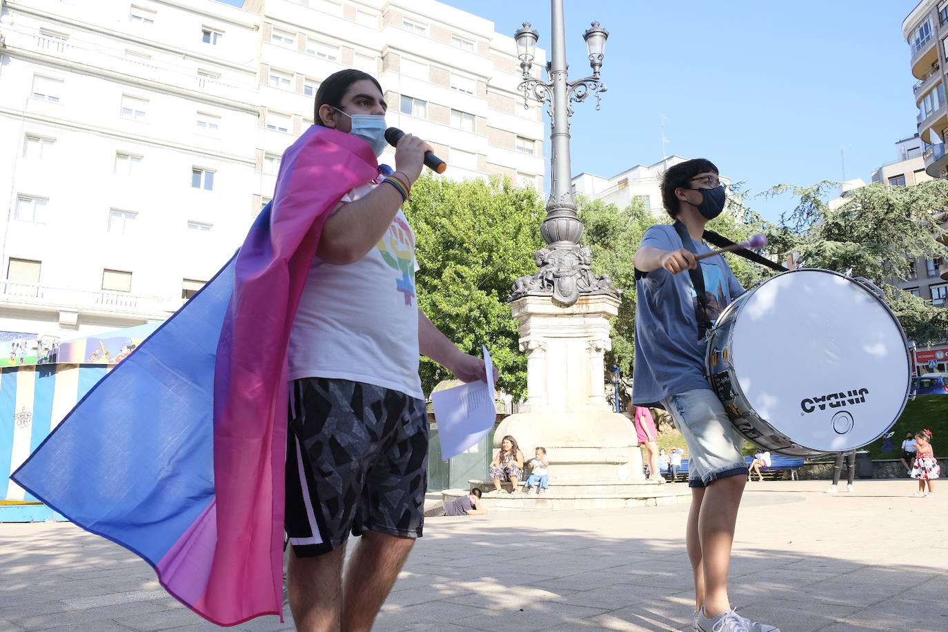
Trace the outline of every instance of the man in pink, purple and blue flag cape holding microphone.
<instances>
[{"instance_id":1,"label":"man in pink, purple and blue flag cape holding microphone","mask_svg":"<svg viewBox=\"0 0 948 632\"><path fill-rule=\"evenodd\" d=\"M364 72L323 81L237 255L13 474L213 623L282 616L285 531L297 628L370 629L422 534L419 352L486 379L418 308L401 205L430 148L379 166L385 109Z\"/></svg>"}]
</instances>

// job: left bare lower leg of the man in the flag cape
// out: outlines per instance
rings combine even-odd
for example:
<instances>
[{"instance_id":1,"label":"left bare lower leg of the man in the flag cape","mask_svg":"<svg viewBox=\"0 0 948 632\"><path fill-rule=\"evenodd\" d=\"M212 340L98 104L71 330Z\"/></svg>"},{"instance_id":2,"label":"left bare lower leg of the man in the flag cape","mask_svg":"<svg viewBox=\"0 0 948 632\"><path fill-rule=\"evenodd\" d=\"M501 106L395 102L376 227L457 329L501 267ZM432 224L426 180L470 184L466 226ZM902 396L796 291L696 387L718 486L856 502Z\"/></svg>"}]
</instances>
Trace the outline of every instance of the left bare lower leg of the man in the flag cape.
<instances>
[{"instance_id":1,"label":"left bare lower leg of the man in the flag cape","mask_svg":"<svg viewBox=\"0 0 948 632\"><path fill-rule=\"evenodd\" d=\"M300 632L337 632L342 612L342 560L346 545L318 557L290 553L290 611Z\"/></svg>"}]
</instances>

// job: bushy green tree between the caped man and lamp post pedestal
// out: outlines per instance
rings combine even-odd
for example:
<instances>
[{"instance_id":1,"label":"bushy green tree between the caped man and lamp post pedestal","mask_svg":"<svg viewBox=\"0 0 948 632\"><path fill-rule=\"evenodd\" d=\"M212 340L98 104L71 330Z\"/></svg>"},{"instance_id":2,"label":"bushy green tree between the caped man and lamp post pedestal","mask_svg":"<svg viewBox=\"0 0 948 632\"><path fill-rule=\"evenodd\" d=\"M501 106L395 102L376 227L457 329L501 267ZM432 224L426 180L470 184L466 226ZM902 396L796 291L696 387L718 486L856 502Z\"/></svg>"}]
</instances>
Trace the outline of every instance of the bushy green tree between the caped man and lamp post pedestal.
<instances>
[{"instance_id":1,"label":"bushy green tree between the caped man and lamp post pedestal","mask_svg":"<svg viewBox=\"0 0 948 632\"><path fill-rule=\"evenodd\" d=\"M487 183L425 175L404 209L416 238L419 306L462 351L480 356L487 345L501 373L498 388L524 396L526 356L507 298L518 277L537 271L545 215L537 191L500 177ZM451 375L422 358L421 377L430 392Z\"/></svg>"}]
</instances>

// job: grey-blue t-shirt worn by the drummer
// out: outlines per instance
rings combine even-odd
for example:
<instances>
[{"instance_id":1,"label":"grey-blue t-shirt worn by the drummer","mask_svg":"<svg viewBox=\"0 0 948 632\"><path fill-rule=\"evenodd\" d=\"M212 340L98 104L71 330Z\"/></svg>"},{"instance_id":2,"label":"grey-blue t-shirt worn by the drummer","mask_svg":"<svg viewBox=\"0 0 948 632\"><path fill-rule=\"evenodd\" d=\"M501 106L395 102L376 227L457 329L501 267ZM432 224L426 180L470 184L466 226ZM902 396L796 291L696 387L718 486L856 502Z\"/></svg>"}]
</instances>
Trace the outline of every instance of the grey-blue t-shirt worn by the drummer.
<instances>
[{"instance_id":1,"label":"grey-blue t-shirt worn by the drummer","mask_svg":"<svg viewBox=\"0 0 948 632\"><path fill-rule=\"evenodd\" d=\"M698 254L710 252L692 240ZM678 250L682 240L673 226L647 229L642 244ZM704 275L707 316L713 323L720 312L744 293L724 258L699 262ZM698 338L695 314L698 298L687 272L673 275L664 268L648 272L635 283L635 375L632 402L646 406L692 388L709 388L704 377L705 340Z\"/></svg>"}]
</instances>

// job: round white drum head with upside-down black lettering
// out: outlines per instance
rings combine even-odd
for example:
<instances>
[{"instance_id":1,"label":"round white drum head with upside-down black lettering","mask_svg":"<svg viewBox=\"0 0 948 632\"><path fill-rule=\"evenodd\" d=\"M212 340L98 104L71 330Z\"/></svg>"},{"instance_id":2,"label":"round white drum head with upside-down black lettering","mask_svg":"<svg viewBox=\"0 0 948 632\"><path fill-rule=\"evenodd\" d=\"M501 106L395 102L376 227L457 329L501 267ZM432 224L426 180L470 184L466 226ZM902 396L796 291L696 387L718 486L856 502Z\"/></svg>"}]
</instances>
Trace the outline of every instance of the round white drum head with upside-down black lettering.
<instances>
[{"instance_id":1,"label":"round white drum head with upside-down black lettering","mask_svg":"<svg viewBox=\"0 0 948 632\"><path fill-rule=\"evenodd\" d=\"M731 332L738 386L757 415L799 445L866 445L905 406L902 329L866 287L828 270L795 270L747 297Z\"/></svg>"}]
</instances>

